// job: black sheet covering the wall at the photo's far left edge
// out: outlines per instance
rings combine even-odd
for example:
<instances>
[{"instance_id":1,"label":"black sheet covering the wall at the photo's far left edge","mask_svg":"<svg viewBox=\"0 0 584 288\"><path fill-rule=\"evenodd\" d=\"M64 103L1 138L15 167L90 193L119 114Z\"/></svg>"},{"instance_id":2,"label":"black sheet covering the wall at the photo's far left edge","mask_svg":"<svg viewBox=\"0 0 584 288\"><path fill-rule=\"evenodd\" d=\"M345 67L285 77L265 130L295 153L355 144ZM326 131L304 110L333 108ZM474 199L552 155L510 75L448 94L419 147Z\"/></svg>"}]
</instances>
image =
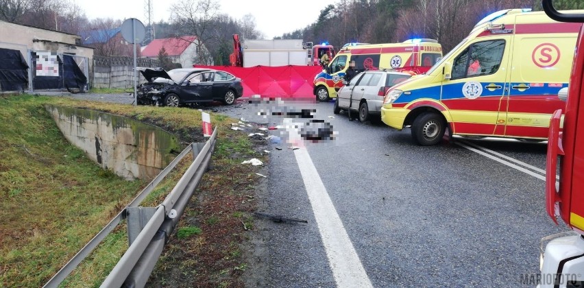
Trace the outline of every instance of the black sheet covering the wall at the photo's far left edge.
<instances>
[{"instance_id":1,"label":"black sheet covering the wall at the photo's far left edge","mask_svg":"<svg viewBox=\"0 0 584 288\"><path fill-rule=\"evenodd\" d=\"M28 64L19 50L0 48L0 90L24 91L28 86Z\"/></svg>"}]
</instances>

